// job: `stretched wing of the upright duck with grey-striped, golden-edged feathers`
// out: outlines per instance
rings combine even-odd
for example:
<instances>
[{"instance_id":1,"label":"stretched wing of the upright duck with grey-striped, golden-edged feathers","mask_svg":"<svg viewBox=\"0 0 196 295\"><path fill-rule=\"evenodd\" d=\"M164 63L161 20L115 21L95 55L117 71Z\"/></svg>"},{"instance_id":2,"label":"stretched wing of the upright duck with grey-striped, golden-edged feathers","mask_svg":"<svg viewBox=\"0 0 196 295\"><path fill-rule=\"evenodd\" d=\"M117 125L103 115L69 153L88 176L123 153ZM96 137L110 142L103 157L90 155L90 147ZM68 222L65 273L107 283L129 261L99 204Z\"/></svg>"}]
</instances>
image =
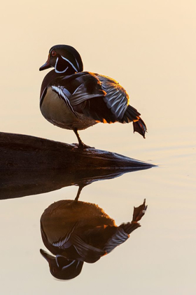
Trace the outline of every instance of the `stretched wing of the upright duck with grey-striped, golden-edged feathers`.
<instances>
[{"instance_id":1,"label":"stretched wing of the upright duck with grey-striped, golden-edged feathers","mask_svg":"<svg viewBox=\"0 0 196 295\"><path fill-rule=\"evenodd\" d=\"M80 76L80 83L70 102L73 106L84 103L82 112L86 116L103 123L139 121L140 113L129 105L127 92L116 80L85 72ZM139 129L134 128L134 131L139 132Z\"/></svg>"}]
</instances>

